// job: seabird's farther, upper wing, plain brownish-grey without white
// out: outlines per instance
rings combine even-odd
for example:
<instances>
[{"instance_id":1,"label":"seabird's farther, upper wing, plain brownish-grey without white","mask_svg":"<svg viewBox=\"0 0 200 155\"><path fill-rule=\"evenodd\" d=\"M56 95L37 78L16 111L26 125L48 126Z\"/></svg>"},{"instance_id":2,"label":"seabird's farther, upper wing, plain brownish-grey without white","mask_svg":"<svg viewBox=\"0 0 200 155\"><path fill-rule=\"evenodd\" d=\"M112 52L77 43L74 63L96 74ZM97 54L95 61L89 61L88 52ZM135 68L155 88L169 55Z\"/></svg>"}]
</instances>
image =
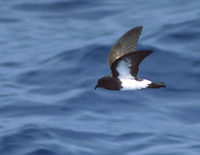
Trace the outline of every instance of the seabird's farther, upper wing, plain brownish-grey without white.
<instances>
[{"instance_id":1,"label":"seabird's farther, upper wing, plain brownish-grey without white","mask_svg":"<svg viewBox=\"0 0 200 155\"><path fill-rule=\"evenodd\" d=\"M110 50L108 57L110 67L118 58L136 51L137 42L142 32L142 28L142 26L138 26L129 30L115 43Z\"/></svg>"}]
</instances>

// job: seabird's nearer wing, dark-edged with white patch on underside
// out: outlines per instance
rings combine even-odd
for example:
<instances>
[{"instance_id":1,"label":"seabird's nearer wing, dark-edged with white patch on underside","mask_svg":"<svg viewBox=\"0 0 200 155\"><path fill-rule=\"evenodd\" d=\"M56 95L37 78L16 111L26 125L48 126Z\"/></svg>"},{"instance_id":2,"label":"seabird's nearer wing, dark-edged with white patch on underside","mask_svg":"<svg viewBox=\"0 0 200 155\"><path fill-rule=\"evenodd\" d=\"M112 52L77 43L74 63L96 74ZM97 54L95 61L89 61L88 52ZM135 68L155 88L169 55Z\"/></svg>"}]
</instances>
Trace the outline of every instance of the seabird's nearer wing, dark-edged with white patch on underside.
<instances>
[{"instance_id":1,"label":"seabird's nearer wing, dark-edged with white patch on underside","mask_svg":"<svg viewBox=\"0 0 200 155\"><path fill-rule=\"evenodd\" d=\"M140 63L145 57L147 57L151 53L152 51L132 52L117 59L111 66L113 77L134 77L135 79L137 79Z\"/></svg>"}]
</instances>

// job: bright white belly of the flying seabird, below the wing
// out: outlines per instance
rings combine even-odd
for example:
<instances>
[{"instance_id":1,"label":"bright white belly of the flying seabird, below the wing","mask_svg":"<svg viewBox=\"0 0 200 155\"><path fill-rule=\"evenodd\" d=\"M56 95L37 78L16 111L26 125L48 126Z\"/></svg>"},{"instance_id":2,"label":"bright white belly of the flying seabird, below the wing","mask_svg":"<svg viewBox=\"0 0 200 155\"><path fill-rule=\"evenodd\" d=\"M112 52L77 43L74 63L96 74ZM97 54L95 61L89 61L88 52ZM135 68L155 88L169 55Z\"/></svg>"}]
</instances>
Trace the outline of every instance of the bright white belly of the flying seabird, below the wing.
<instances>
[{"instance_id":1,"label":"bright white belly of the flying seabird, below the wing","mask_svg":"<svg viewBox=\"0 0 200 155\"><path fill-rule=\"evenodd\" d=\"M133 78L128 79L120 79L122 89L121 90L136 90L136 89L143 89L147 88L149 84L152 82L146 79L143 79L142 81L137 81Z\"/></svg>"}]
</instances>

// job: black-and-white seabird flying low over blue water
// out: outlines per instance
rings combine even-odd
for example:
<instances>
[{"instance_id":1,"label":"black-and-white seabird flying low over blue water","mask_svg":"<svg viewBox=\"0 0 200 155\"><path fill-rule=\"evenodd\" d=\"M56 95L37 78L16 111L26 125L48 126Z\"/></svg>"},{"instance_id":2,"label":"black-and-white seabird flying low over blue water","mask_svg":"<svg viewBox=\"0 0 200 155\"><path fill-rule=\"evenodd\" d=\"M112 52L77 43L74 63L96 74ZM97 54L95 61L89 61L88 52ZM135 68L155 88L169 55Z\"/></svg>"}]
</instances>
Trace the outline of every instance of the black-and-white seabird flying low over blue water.
<instances>
[{"instance_id":1,"label":"black-and-white seabird flying low over blue water","mask_svg":"<svg viewBox=\"0 0 200 155\"><path fill-rule=\"evenodd\" d=\"M136 51L142 29L143 26L130 29L114 44L108 56L111 74L100 78L95 89L140 90L166 87L164 82L152 82L137 76L140 63L153 52L152 50Z\"/></svg>"}]
</instances>

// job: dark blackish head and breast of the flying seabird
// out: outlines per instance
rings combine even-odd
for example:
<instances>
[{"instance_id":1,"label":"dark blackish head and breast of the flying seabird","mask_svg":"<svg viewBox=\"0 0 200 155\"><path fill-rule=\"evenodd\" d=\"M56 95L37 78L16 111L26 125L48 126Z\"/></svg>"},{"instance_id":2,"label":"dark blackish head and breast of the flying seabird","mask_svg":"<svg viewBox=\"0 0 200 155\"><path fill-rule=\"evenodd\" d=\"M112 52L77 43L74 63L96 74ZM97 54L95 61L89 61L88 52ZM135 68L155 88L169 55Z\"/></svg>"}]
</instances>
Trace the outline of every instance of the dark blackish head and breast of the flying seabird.
<instances>
[{"instance_id":1,"label":"dark blackish head and breast of the flying seabird","mask_svg":"<svg viewBox=\"0 0 200 155\"><path fill-rule=\"evenodd\" d=\"M96 85L95 89L101 87L110 90L119 90L121 88L121 82L111 76L105 76L98 80L98 84Z\"/></svg>"}]
</instances>

